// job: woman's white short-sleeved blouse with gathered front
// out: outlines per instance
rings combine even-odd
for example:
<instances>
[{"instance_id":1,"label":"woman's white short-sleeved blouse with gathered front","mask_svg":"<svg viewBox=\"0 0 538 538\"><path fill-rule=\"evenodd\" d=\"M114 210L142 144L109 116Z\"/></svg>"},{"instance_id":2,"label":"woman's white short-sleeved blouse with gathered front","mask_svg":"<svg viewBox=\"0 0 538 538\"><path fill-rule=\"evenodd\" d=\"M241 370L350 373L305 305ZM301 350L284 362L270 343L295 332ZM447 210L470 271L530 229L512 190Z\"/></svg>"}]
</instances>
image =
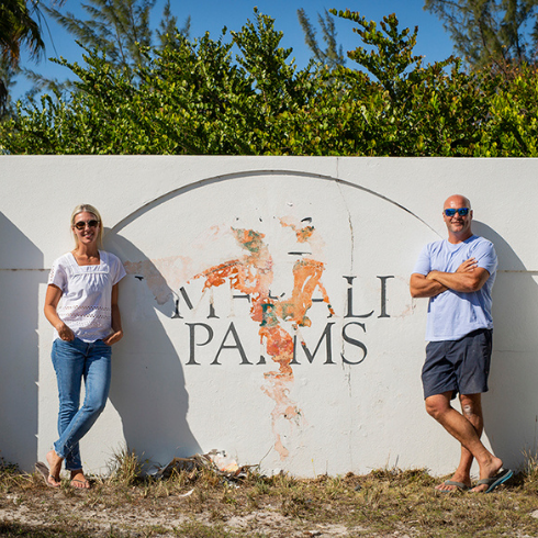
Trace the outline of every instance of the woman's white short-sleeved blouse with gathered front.
<instances>
[{"instance_id":1,"label":"woman's white short-sleeved blouse with gathered front","mask_svg":"<svg viewBox=\"0 0 538 538\"><path fill-rule=\"evenodd\" d=\"M112 287L125 277L117 256L99 250L98 266L79 266L67 253L54 261L48 283L61 290L59 318L82 341L105 338L112 332ZM54 338L59 338L54 332Z\"/></svg>"}]
</instances>

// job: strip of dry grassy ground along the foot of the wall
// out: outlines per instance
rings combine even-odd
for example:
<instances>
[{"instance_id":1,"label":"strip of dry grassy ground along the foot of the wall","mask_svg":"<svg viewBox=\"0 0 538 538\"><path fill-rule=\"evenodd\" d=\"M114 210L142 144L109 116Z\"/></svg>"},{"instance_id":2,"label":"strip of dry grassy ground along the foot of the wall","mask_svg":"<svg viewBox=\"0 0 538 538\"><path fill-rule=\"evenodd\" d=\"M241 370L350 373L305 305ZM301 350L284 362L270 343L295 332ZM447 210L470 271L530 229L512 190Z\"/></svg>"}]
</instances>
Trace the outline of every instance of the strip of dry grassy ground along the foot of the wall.
<instances>
[{"instance_id":1,"label":"strip of dry grassy ground along the foot of the wall","mask_svg":"<svg viewBox=\"0 0 538 538\"><path fill-rule=\"evenodd\" d=\"M0 462L1 463L1 462ZM247 472L237 482L201 469L138 477L120 453L107 478L76 491L0 464L0 535L32 537L533 537L538 459L493 494L437 493L424 470L299 480Z\"/></svg>"}]
</instances>

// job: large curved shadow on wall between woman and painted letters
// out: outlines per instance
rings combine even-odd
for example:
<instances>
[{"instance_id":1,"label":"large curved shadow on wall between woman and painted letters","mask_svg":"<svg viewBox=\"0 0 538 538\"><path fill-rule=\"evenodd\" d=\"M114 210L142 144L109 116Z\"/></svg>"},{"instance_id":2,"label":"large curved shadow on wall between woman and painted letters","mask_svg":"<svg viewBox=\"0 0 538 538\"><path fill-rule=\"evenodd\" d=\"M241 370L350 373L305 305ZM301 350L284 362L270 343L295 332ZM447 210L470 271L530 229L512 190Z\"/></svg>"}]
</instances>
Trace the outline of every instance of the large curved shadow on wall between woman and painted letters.
<instances>
[{"instance_id":1,"label":"large curved shadow on wall between woman and painted letters","mask_svg":"<svg viewBox=\"0 0 538 538\"><path fill-rule=\"evenodd\" d=\"M152 277L166 285L144 253L124 237L109 232L104 247L123 262L144 261ZM183 367L158 318L161 307L144 278L141 272L127 273L120 284L125 337L114 350L110 401L122 419L127 447L141 460L166 464L201 448L187 422L189 394Z\"/></svg>"}]
</instances>

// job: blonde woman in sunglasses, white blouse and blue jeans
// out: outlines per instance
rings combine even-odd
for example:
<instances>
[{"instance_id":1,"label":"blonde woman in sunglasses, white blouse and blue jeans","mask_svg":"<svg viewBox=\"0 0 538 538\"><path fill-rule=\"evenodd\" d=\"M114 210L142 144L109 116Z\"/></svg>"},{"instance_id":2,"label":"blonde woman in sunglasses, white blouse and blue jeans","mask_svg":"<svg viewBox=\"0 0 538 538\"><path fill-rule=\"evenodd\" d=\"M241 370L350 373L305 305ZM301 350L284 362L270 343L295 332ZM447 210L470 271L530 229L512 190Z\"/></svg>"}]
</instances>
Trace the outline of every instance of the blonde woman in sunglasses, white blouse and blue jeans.
<instances>
[{"instance_id":1,"label":"blonde woman in sunglasses, white blouse and blue jeans","mask_svg":"<svg viewBox=\"0 0 538 538\"><path fill-rule=\"evenodd\" d=\"M125 276L120 259L101 250L103 223L92 205L71 215L75 249L51 269L45 316L54 327L52 359L58 382L59 438L38 463L47 485L60 485L65 461L74 487L90 486L82 471L79 440L104 408L110 389L111 346L123 337L117 307L117 282ZM86 396L80 406L80 389Z\"/></svg>"}]
</instances>

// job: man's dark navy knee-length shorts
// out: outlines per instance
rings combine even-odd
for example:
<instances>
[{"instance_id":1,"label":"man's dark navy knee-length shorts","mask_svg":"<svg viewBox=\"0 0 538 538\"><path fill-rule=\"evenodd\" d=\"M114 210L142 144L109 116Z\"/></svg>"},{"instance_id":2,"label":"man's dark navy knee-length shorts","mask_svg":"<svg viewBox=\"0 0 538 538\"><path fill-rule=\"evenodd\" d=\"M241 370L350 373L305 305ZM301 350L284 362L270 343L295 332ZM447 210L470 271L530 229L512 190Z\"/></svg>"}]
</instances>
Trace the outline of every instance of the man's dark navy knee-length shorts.
<instances>
[{"instance_id":1,"label":"man's dark navy knee-length shorts","mask_svg":"<svg viewBox=\"0 0 538 538\"><path fill-rule=\"evenodd\" d=\"M473 330L459 340L430 341L423 367L424 397L445 392L487 392L493 330Z\"/></svg>"}]
</instances>

